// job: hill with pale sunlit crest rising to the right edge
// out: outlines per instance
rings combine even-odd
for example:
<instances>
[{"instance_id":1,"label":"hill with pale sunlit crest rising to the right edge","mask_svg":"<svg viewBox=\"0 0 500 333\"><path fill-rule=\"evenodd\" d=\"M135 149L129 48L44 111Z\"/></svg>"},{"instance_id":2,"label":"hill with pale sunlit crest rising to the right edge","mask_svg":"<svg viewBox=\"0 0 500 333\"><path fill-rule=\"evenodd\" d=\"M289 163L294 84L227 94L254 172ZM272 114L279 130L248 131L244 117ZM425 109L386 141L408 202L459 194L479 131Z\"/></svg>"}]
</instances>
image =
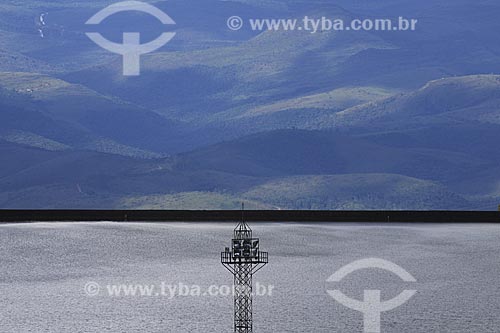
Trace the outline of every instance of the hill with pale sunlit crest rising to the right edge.
<instances>
[{"instance_id":1,"label":"hill with pale sunlit crest rising to the right edge","mask_svg":"<svg viewBox=\"0 0 500 333\"><path fill-rule=\"evenodd\" d=\"M347 108L317 120L322 127L387 127L470 121L498 124L500 76L471 75L427 83L409 93Z\"/></svg>"}]
</instances>

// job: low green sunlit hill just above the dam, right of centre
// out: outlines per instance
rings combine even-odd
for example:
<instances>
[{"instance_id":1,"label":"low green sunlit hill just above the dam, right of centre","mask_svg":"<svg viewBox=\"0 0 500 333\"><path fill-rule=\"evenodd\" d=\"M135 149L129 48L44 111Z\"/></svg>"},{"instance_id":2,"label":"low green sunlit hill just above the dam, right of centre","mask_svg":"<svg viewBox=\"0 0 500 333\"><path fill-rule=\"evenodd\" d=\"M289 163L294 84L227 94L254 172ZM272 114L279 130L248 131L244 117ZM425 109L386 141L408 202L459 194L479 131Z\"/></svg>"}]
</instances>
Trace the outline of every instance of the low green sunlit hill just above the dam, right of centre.
<instances>
[{"instance_id":1,"label":"low green sunlit hill just above the dam, right of centre","mask_svg":"<svg viewBox=\"0 0 500 333\"><path fill-rule=\"evenodd\" d=\"M295 176L252 188L243 195L281 209L439 210L470 203L429 181L391 174Z\"/></svg>"}]
</instances>

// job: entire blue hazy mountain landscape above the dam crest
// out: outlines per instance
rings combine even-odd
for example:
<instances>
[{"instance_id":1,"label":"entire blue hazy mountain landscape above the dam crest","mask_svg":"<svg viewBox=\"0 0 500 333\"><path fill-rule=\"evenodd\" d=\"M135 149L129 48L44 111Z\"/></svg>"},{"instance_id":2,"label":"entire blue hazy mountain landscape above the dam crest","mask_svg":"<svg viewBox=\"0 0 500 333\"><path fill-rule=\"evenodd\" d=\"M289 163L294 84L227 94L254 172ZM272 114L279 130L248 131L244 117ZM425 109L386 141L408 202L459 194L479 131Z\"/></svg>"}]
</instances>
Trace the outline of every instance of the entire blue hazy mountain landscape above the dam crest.
<instances>
[{"instance_id":1,"label":"entire blue hazy mountain landscape above the dam crest","mask_svg":"<svg viewBox=\"0 0 500 333\"><path fill-rule=\"evenodd\" d=\"M0 207L496 209L500 3L0 4ZM42 16L43 15L43 16ZM416 18L417 31L240 31L228 17ZM43 22L41 21L43 20ZM171 43L124 77L86 36Z\"/></svg>"}]
</instances>

